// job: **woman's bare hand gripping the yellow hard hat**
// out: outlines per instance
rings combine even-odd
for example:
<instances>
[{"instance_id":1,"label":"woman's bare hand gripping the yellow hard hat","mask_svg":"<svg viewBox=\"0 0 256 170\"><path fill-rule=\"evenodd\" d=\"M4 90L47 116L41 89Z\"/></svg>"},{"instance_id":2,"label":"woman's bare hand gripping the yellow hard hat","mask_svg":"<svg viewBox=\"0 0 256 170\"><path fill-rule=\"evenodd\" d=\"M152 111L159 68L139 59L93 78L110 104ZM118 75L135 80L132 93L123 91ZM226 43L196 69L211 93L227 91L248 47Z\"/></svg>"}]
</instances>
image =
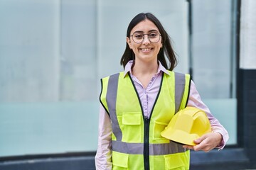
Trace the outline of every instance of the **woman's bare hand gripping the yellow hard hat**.
<instances>
[{"instance_id":1,"label":"woman's bare hand gripping the yellow hard hat","mask_svg":"<svg viewBox=\"0 0 256 170\"><path fill-rule=\"evenodd\" d=\"M195 151L203 150L204 152L209 152L211 149L214 149L220 145L222 140L223 137L220 135L220 133L210 132L194 140L196 146L183 145L183 148L193 149Z\"/></svg>"}]
</instances>

